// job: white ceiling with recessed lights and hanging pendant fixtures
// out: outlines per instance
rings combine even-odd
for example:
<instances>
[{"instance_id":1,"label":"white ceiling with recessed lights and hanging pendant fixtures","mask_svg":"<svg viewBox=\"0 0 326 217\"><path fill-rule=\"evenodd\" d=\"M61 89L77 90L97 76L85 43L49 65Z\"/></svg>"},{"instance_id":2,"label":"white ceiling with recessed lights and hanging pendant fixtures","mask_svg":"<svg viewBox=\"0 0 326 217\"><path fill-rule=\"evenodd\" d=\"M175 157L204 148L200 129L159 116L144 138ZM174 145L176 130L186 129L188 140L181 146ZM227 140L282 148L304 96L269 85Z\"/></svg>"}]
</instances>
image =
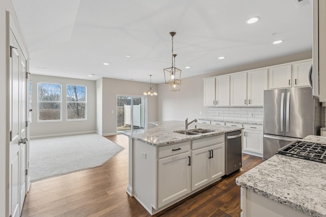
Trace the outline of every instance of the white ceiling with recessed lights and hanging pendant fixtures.
<instances>
[{"instance_id":1,"label":"white ceiling with recessed lights and hanging pendant fixtures","mask_svg":"<svg viewBox=\"0 0 326 217\"><path fill-rule=\"evenodd\" d=\"M311 0L12 3L30 51L32 74L141 82L149 82L152 74L152 83L162 83L163 69L171 67L172 31L177 33L174 53L181 78L312 48ZM247 24L254 16L260 20ZM284 42L275 45L276 40Z\"/></svg>"}]
</instances>

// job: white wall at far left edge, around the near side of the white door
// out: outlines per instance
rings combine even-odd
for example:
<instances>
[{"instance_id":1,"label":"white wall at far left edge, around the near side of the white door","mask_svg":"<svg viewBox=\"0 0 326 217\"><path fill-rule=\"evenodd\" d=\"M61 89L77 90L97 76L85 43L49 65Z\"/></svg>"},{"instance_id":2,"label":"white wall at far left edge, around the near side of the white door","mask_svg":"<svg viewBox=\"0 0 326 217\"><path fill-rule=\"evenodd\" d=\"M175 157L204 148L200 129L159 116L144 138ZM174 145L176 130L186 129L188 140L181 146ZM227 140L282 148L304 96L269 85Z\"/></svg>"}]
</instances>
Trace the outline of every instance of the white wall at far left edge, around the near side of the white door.
<instances>
[{"instance_id":1,"label":"white wall at far left edge, around the near side of the white door","mask_svg":"<svg viewBox=\"0 0 326 217\"><path fill-rule=\"evenodd\" d=\"M9 20L6 12L14 21L14 25L27 49L19 23L10 0L0 1L0 216L9 216ZM27 50L28 51L28 50Z\"/></svg>"}]
</instances>

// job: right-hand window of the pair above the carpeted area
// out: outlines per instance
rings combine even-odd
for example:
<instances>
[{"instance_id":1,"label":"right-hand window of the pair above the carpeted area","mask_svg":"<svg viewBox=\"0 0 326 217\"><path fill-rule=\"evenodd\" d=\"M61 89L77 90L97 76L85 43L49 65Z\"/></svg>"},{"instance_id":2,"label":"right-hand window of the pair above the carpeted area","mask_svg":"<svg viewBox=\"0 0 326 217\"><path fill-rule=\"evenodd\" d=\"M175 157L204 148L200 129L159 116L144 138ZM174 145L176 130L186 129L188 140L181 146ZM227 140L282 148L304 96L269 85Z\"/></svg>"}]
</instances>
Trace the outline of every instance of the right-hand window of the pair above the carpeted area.
<instances>
[{"instance_id":1,"label":"right-hand window of the pair above the carpeted area","mask_svg":"<svg viewBox=\"0 0 326 217\"><path fill-rule=\"evenodd\" d=\"M67 120L86 120L86 86L67 85Z\"/></svg>"}]
</instances>

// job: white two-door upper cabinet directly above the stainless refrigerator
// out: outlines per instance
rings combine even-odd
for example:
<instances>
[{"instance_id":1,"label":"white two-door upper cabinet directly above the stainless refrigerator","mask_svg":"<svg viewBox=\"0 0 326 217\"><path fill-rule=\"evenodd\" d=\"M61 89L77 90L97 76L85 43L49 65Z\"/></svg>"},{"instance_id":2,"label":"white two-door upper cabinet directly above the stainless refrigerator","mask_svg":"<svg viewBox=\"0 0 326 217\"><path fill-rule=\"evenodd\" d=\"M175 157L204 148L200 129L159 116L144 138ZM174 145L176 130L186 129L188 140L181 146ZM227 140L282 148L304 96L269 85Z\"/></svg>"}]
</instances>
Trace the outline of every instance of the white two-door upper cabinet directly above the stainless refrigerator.
<instances>
[{"instance_id":1,"label":"white two-door upper cabinet directly above the stainless refrigerator","mask_svg":"<svg viewBox=\"0 0 326 217\"><path fill-rule=\"evenodd\" d=\"M269 89L308 87L308 73L311 64L312 60L310 59L270 67L268 69Z\"/></svg>"}]
</instances>

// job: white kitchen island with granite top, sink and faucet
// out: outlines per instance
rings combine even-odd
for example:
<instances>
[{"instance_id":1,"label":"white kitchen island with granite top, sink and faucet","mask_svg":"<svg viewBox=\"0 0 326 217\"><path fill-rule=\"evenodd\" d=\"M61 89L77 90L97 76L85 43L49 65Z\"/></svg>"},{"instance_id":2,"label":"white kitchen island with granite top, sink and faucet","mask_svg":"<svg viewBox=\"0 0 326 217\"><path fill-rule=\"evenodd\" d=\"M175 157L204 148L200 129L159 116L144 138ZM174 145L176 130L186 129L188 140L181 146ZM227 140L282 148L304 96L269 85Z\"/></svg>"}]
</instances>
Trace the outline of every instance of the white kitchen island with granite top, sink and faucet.
<instances>
[{"instance_id":1,"label":"white kitchen island with granite top, sink and faucet","mask_svg":"<svg viewBox=\"0 0 326 217\"><path fill-rule=\"evenodd\" d=\"M129 138L127 193L155 214L225 175L225 133L242 127L193 123L213 130L193 135L183 121L149 123L147 130L124 132ZM191 130L191 129L190 129Z\"/></svg>"}]
</instances>

